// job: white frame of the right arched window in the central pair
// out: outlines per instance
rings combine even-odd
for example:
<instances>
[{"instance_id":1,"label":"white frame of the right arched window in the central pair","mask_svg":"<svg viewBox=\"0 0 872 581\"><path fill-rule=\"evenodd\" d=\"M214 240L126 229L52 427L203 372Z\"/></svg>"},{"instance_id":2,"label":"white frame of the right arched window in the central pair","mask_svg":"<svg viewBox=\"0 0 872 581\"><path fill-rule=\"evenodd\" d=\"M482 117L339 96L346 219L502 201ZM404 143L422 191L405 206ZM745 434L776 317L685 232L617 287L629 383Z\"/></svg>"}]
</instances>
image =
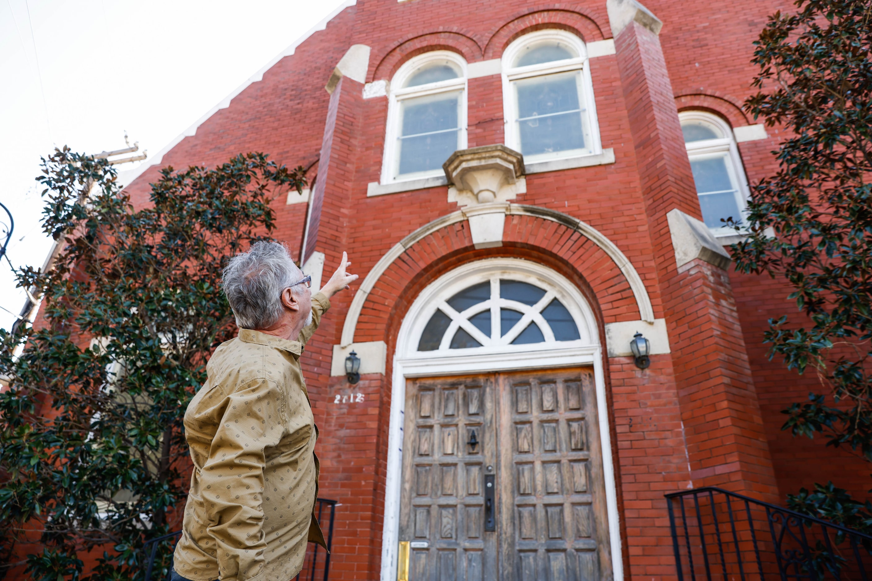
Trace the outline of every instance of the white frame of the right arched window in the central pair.
<instances>
[{"instance_id":1,"label":"white frame of the right arched window in the central pair","mask_svg":"<svg viewBox=\"0 0 872 581\"><path fill-rule=\"evenodd\" d=\"M555 40L569 44L578 53L576 58L567 58L562 61L551 63L531 64L529 66L513 67L512 63L528 44L540 43L546 40ZM596 101L594 100L593 83L590 79L590 67L587 47L581 38L566 30L538 30L525 34L514 40L502 55L502 106L503 118L505 119L505 142L508 147L515 151L521 151L521 136L518 135L518 105L512 90L512 81L521 78L539 77L556 72L581 71L582 73L582 98L587 106L588 126L590 127L590 152L579 155L578 153L565 152L555 153L547 157L538 154L535 158L524 159L525 163L538 163L554 159L575 159L599 155L603 152L603 144L600 141L599 123L596 118Z\"/></svg>"}]
</instances>

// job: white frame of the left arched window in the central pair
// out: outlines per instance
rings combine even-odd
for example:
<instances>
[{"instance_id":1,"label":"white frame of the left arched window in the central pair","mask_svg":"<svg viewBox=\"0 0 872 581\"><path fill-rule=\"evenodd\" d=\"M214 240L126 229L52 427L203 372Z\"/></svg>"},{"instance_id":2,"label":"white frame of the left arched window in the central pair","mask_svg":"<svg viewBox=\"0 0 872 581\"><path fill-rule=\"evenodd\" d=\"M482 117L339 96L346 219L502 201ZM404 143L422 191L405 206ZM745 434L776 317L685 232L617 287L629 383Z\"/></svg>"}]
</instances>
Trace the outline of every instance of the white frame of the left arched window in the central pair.
<instances>
[{"instance_id":1,"label":"white frame of the left arched window in the central pair","mask_svg":"<svg viewBox=\"0 0 872 581\"><path fill-rule=\"evenodd\" d=\"M438 83L419 84L418 86L402 89L400 87L405 84L407 78L419 67L437 60L449 60L453 64L460 67L461 75L459 78L450 78L446 81ZM456 52L452 51L431 51L425 52L418 57L410 58L403 64L399 71L391 79L391 90L388 93L388 114L387 124L385 126L385 153L382 156L382 173L381 183L396 184L405 181L415 181L419 179L427 179L433 177L444 176L442 168L434 169L431 172L417 172L404 176L395 176L393 168L396 165L398 154L397 139L399 136L399 102L408 98L424 97L441 92L461 91L460 95L460 111L458 115L458 125L460 125L460 138L458 149L467 148L467 61L460 57Z\"/></svg>"}]
</instances>

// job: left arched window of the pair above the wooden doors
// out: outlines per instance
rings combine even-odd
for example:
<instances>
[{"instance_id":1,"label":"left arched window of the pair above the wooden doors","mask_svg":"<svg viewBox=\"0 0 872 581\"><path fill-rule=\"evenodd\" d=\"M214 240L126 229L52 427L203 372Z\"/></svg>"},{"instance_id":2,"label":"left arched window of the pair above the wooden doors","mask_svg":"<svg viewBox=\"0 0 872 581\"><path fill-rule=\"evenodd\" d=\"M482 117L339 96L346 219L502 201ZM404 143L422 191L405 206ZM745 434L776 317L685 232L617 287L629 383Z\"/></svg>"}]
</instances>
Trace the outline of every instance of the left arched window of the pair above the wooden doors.
<instances>
[{"instance_id":1,"label":"left arched window of the pair above the wooden doors","mask_svg":"<svg viewBox=\"0 0 872 581\"><path fill-rule=\"evenodd\" d=\"M412 58L391 81L382 183L443 175L467 146L467 64L450 51Z\"/></svg>"}]
</instances>

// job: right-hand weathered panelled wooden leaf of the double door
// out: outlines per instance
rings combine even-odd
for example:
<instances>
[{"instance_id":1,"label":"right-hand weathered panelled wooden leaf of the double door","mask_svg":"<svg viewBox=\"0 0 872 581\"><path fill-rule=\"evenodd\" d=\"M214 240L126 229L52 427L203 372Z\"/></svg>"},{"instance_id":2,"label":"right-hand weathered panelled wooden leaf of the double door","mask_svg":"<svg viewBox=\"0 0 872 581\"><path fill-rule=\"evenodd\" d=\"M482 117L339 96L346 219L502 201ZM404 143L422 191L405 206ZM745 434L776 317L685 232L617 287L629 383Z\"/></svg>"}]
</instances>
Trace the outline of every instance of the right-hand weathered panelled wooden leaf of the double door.
<instances>
[{"instance_id":1,"label":"right-hand weathered panelled wooden leaf of the double door","mask_svg":"<svg viewBox=\"0 0 872 581\"><path fill-rule=\"evenodd\" d=\"M498 375L501 578L610 579L590 368Z\"/></svg>"}]
</instances>

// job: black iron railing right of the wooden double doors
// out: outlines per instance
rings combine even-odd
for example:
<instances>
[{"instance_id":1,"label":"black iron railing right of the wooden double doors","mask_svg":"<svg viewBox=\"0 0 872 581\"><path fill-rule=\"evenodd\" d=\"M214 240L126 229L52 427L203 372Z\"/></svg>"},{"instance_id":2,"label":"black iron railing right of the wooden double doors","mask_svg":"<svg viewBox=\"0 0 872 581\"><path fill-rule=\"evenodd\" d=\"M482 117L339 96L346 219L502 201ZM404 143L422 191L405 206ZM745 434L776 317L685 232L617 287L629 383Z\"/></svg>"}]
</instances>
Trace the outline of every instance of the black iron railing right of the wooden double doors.
<instances>
[{"instance_id":1,"label":"black iron railing right of the wooden double doors","mask_svg":"<svg viewBox=\"0 0 872 581\"><path fill-rule=\"evenodd\" d=\"M869 581L872 537L715 487L665 495L678 581Z\"/></svg>"}]
</instances>

